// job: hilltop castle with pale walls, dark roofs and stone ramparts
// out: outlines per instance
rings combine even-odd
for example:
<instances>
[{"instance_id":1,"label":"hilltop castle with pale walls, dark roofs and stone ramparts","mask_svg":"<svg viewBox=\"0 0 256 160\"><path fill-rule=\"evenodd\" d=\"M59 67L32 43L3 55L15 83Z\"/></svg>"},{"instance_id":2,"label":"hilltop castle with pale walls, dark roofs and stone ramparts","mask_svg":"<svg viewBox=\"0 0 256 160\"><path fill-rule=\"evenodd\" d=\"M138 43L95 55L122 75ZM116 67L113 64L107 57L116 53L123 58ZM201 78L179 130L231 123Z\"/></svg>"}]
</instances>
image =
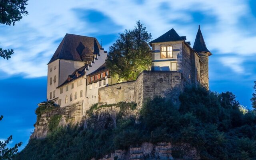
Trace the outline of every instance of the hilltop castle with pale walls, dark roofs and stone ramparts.
<instances>
[{"instance_id":1,"label":"hilltop castle with pale walls, dark roofs and stone ramparts","mask_svg":"<svg viewBox=\"0 0 256 160\"><path fill-rule=\"evenodd\" d=\"M174 29L150 42L152 69L136 80L118 83L109 74L107 52L93 37L66 34L48 63L47 100L60 107L135 102L156 95L178 102L186 86L209 87L208 56L200 26L193 48Z\"/></svg>"}]
</instances>

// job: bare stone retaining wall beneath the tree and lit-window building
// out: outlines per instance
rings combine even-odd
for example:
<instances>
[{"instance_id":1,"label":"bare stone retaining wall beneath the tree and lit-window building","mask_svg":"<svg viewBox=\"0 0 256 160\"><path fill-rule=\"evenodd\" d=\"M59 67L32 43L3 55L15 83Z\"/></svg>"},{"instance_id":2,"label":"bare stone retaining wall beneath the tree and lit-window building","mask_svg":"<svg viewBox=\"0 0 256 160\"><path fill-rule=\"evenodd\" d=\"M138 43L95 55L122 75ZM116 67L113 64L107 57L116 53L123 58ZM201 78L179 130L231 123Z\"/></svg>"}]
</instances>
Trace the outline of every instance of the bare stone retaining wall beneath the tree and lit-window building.
<instances>
[{"instance_id":1,"label":"bare stone retaining wall beneath the tree and lit-window building","mask_svg":"<svg viewBox=\"0 0 256 160\"><path fill-rule=\"evenodd\" d=\"M138 107L148 98L161 96L178 102L183 90L182 74L177 71L143 71L135 81L99 88L99 105L135 102Z\"/></svg>"}]
</instances>

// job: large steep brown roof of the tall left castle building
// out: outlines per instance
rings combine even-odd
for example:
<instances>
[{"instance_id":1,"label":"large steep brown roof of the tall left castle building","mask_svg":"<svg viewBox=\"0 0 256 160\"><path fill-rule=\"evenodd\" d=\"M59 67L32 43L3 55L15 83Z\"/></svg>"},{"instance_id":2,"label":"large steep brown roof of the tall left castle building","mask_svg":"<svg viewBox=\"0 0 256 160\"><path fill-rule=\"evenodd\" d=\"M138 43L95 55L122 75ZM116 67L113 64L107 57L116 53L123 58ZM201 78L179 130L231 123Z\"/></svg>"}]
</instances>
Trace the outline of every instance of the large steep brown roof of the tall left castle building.
<instances>
[{"instance_id":1,"label":"large steep brown roof of the tall left castle building","mask_svg":"<svg viewBox=\"0 0 256 160\"><path fill-rule=\"evenodd\" d=\"M85 48L92 50L93 54L99 54L101 46L94 37L66 34L49 63L57 59L82 61L81 55Z\"/></svg>"}]
</instances>

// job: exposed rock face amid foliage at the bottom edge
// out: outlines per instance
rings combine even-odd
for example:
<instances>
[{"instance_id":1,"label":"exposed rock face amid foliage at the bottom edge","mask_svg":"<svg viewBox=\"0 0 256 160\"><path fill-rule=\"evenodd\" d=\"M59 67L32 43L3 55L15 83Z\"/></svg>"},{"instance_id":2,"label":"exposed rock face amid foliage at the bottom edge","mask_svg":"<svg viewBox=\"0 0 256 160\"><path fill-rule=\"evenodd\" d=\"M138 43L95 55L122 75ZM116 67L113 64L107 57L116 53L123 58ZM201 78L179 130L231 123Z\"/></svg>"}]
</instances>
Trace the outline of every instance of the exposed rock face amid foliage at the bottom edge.
<instances>
[{"instance_id":1,"label":"exposed rock face amid foliage at the bottom edge","mask_svg":"<svg viewBox=\"0 0 256 160\"><path fill-rule=\"evenodd\" d=\"M181 145L182 147L172 146L170 143L161 142L156 145L151 143L143 143L140 147L130 147L128 150L116 150L112 154L106 155L100 160L199 160L195 149L189 149L186 156L182 158L174 158L177 156L175 151L179 151L189 147ZM94 158L92 160L95 160Z\"/></svg>"}]
</instances>

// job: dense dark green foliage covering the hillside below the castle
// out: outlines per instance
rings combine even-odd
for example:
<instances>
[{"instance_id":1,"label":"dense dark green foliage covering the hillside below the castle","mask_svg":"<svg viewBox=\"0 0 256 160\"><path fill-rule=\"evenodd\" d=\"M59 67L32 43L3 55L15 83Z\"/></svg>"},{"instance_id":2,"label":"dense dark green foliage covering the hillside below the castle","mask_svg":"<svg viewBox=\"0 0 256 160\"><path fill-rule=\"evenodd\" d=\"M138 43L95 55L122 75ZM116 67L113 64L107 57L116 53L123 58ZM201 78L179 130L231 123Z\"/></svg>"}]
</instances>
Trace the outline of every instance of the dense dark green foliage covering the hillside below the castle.
<instances>
[{"instance_id":1,"label":"dense dark green foliage covering the hillside below the castle","mask_svg":"<svg viewBox=\"0 0 256 160\"><path fill-rule=\"evenodd\" d=\"M116 105L120 110L133 106ZM156 97L144 103L140 115L138 120L118 116L116 128L57 128L45 139L30 140L16 159L98 159L143 142L171 142L176 158L194 147L204 160L256 159L256 113L241 110L231 92L188 88L180 95L180 106ZM182 144L189 147L179 148Z\"/></svg>"}]
</instances>

